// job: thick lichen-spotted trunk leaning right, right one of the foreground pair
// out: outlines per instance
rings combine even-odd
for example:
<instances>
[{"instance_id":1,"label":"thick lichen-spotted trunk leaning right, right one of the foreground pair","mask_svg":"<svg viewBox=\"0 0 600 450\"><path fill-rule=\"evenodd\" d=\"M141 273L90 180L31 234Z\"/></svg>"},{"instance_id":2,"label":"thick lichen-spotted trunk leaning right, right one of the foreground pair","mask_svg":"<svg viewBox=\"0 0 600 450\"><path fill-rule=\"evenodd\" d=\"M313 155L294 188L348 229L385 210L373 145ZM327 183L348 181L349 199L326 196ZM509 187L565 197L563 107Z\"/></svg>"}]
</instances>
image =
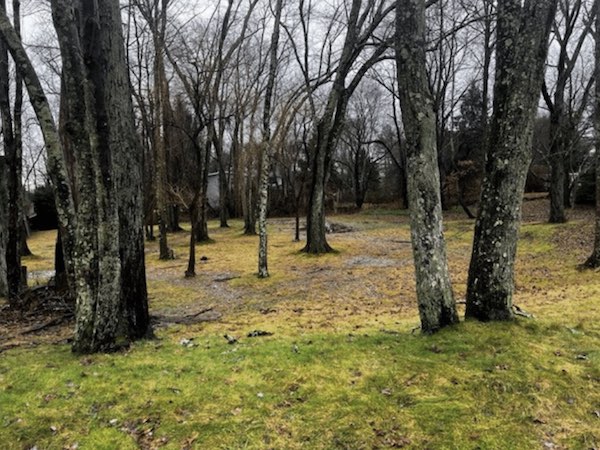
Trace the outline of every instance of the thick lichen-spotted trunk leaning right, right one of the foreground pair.
<instances>
[{"instance_id":1,"label":"thick lichen-spotted trunk leaning right, right one of the foreground pair","mask_svg":"<svg viewBox=\"0 0 600 450\"><path fill-rule=\"evenodd\" d=\"M513 318L523 190L556 3L498 2L494 113L469 267L467 317Z\"/></svg>"}]
</instances>

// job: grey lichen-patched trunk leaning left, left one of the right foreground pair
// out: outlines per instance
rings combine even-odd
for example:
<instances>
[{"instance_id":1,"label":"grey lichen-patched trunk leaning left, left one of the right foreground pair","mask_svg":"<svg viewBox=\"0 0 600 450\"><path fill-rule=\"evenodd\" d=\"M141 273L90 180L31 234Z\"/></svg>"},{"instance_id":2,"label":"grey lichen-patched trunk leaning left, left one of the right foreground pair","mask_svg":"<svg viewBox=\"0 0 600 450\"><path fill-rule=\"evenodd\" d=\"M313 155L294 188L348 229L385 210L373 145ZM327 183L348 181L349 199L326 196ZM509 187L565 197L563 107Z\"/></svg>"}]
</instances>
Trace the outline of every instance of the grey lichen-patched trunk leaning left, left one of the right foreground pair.
<instances>
[{"instance_id":1,"label":"grey lichen-patched trunk leaning left, left one of the right foreground pair","mask_svg":"<svg viewBox=\"0 0 600 450\"><path fill-rule=\"evenodd\" d=\"M411 240L421 330L458 322L448 272L437 167L436 119L425 59L425 0L398 0L396 63L407 141Z\"/></svg>"}]
</instances>

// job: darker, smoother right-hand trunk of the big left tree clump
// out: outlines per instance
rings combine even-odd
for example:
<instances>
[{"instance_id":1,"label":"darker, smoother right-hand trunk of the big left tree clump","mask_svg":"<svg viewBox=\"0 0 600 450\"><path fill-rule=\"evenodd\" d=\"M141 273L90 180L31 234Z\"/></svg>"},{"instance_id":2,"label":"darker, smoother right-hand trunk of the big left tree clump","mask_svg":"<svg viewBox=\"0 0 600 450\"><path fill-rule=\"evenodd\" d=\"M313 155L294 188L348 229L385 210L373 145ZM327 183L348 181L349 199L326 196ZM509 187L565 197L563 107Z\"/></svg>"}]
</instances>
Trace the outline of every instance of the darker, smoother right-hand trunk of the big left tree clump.
<instances>
[{"instance_id":1,"label":"darker, smoother right-hand trunk of the big left tree clump","mask_svg":"<svg viewBox=\"0 0 600 450\"><path fill-rule=\"evenodd\" d=\"M99 1L96 15L99 26L86 46L88 70L97 97L97 127L112 156L117 187L122 326L130 339L138 339L151 334L144 258L143 148L135 129L119 2Z\"/></svg>"}]
</instances>

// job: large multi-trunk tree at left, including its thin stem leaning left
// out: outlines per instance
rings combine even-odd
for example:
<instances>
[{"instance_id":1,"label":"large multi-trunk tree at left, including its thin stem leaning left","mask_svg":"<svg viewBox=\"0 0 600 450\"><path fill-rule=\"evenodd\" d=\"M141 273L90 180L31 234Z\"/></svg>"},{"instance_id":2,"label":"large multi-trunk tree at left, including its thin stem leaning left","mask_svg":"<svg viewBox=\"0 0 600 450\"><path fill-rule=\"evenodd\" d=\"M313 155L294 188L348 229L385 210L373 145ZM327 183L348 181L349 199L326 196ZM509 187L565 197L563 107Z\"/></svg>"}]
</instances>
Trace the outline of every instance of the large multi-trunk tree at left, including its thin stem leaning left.
<instances>
[{"instance_id":1,"label":"large multi-trunk tree at left, including its thin stem leaning left","mask_svg":"<svg viewBox=\"0 0 600 450\"><path fill-rule=\"evenodd\" d=\"M141 221L126 225L136 227L127 235L135 241L134 245L129 248L129 242L120 242L123 238L119 210L127 211L121 208L121 201L131 202L133 196L126 193L119 198L118 191L139 193L133 187L139 179L131 181L128 178L131 172L127 172L128 177L120 172L130 168L121 165L133 160L121 152L131 151L132 147L116 142L123 139L123 133L134 136L133 115L128 95L123 97L129 84L123 79L127 70L118 1L53 0L52 13L61 46L63 94L67 97L70 117L74 118L72 127L63 136L76 144L73 145L77 157L74 180L69 179L61 138L39 78L4 13L0 13L0 34L23 74L44 133L48 173L65 230L65 262L73 267L74 274L71 287L77 299L77 320L73 350L87 353L113 349L121 336L141 337L149 330L147 299L145 291L138 289L139 280L136 279L133 290L122 288L125 279L122 270L127 264L137 269L135 276L144 275L139 272L143 268L143 251L124 254L139 248ZM75 20L75 13L81 22ZM120 91L119 86L125 86L125 91ZM80 192L77 202L71 181ZM129 211L139 206L130 204Z\"/></svg>"}]
</instances>

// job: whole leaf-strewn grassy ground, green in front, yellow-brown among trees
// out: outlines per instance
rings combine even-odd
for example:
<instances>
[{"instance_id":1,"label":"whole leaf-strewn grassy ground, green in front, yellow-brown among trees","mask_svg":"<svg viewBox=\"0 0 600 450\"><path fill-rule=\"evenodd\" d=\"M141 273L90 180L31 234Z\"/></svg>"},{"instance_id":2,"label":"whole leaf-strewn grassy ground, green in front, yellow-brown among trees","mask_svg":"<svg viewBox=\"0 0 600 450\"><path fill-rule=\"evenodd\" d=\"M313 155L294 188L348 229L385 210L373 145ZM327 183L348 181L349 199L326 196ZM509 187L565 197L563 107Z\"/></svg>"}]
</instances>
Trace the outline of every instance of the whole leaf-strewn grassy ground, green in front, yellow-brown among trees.
<instances>
[{"instance_id":1,"label":"whole leaf-strewn grassy ground, green in front, yellow-brown among trees","mask_svg":"<svg viewBox=\"0 0 600 450\"><path fill-rule=\"evenodd\" d=\"M61 311L0 311L0 447L600 448L600 281L578 270L593 212L548 225L546 211L525 202L518 250L515 303L534 317L434 336L415 331L404 211L331 217L352 231L322 256L272 219L264 280L239 221L211 223L191 279L187 233L169 235L173 261L149 243L154 340L82 357ZM445 226L460 301L473 221L455 211ZM51 275L54 236L30 239L33 285Z\"/></svg>"}]
</instances>

